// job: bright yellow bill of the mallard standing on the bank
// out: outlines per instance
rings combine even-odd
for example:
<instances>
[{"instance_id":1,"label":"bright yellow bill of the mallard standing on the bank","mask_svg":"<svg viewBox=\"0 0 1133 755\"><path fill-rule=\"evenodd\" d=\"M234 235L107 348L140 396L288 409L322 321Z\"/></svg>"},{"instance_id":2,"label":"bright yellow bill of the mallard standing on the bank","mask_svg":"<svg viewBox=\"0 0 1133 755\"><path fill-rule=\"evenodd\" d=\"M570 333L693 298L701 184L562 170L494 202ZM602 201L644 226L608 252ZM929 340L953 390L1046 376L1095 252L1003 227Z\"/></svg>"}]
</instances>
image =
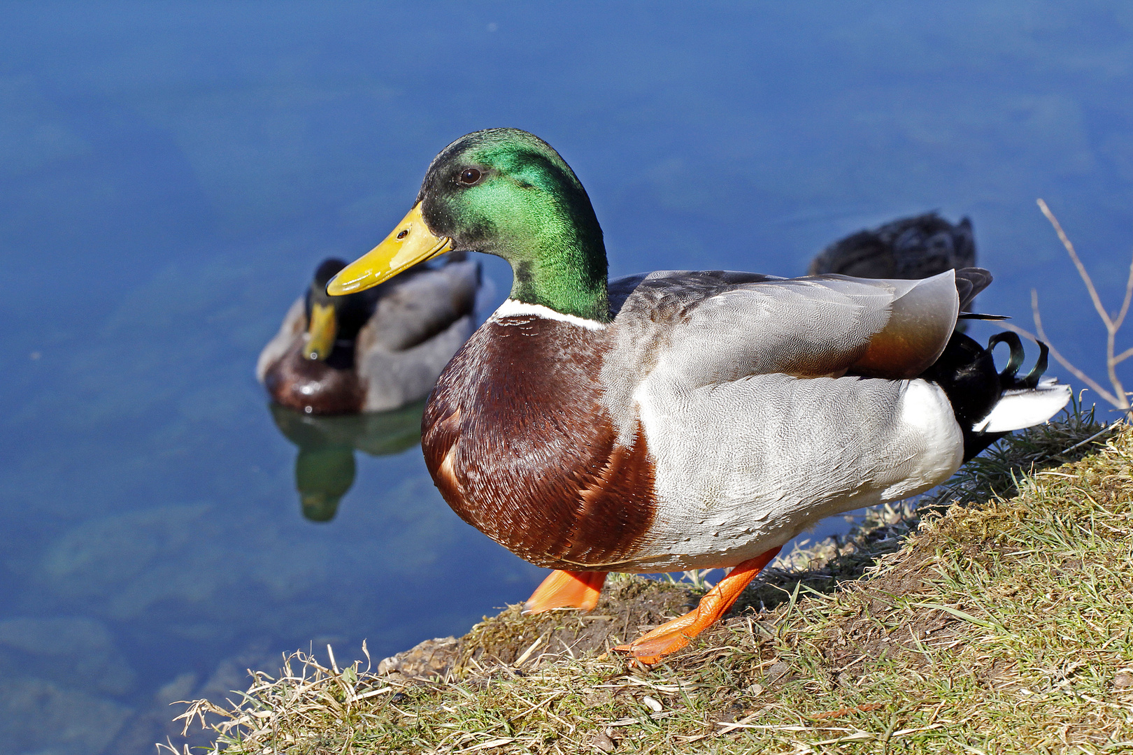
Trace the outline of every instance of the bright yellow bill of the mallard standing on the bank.
<instances>
[{"instance_id":1,"label":"bright yellow bill of the mallard standing on the bank","mask_svg":"<svg viewBox=\"0 0 1133 755\"><path fill-rule=\"evenodd\" d=\"M331 278L326 284L326 293L341 297L344 293L365 291L450 249L452 239L433 235L421 217L420 203L417 203L382 243Z\"/></svg>"}]
</instances>

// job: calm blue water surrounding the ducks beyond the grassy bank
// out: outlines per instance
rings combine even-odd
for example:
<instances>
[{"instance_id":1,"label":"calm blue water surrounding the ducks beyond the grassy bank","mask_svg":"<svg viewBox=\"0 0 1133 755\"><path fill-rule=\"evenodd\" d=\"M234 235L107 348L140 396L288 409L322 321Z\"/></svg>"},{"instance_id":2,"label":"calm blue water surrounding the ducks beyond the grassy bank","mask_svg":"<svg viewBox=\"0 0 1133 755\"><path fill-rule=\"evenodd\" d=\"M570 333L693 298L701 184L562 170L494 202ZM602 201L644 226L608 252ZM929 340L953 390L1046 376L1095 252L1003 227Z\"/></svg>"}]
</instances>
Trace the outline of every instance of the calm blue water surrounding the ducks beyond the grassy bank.
<instances>
[{"instance_id":1,"label":"calm blue water surrounding the ducks beyond the grassy bank","mask_svg":"<svg viewBox=\"0 0 1133 755\"><path fill-rule=\"evenodd\" d=\"M253 378L315 263L518 126L594 200L611 272L801 274L903 214L970 215L981 308L1100 374L1036 209L1116 308L1133 7L0 3L0 752L150 753L165 703L322 647L375 658L527 597L414 448L300 516ZM502 293L510 272L485 259ZM1125 342L1128 345L1128 342ZM1055 366L1051 370L1066 377ZM1126 371L1127 374L1127 371ZM410 440L411 443L411 440Z\"/></svg>"}]
</instances>

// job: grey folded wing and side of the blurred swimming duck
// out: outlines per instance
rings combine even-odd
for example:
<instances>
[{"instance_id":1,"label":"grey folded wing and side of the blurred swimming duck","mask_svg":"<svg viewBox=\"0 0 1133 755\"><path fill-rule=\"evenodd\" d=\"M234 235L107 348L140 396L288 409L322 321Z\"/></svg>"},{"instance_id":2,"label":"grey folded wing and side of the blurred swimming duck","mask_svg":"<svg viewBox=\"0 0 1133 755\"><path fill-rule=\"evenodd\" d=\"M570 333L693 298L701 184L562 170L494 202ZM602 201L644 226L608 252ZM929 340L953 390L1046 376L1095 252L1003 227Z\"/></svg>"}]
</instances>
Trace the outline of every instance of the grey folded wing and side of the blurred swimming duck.
<instances>
[{"instance_id":1,"label":"grey folded wing and side of the blurred swimming duck","mask_svg":"<svg viewBox=\"0 0 1133 755\"><path fill-rule=\"evenodd\" d=\"M365 411L394 409L433 389L475 329L479 285L479 264L466 260L423 271L383 294L358 333L356 360L367 388Z\"/></svg>"}]
</instances>

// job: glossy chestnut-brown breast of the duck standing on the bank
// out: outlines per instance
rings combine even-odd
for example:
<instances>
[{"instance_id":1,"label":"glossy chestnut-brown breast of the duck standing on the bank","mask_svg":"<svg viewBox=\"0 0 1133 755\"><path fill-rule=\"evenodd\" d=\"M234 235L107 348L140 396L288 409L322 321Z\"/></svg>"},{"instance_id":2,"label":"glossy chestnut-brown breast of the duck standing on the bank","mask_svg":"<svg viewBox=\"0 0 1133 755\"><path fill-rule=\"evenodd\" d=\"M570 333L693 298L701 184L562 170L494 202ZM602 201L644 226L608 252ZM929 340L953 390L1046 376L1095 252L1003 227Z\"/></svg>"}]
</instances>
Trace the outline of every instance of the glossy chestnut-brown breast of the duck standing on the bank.
<instances>
[{"instance_id":1,"label":"glossy chestnut-brown breast of the duck standing on the bank","mask_svg":"<svg viewBox=\"0 0 1133 755\"><path fill-rule=\"evenodd\" d=\"M623 560L656 515L640 426L630 445L602 404L600 333L539 317L487 323L441 375L425 462L466 522L539 566Z\"/></svg>"}]
</instances>

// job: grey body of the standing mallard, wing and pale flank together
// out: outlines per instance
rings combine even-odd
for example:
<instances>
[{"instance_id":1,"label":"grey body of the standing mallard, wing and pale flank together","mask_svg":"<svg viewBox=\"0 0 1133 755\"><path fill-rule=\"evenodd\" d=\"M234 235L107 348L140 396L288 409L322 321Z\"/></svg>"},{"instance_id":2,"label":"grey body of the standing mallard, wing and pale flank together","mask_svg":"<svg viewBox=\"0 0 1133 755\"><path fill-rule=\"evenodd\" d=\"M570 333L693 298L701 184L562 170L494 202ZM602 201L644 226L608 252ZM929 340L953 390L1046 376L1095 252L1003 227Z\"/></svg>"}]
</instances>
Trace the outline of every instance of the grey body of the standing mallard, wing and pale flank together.
<instances>
[{"instance_id":1,"label":"grey body of the standing mallard, wing and pale flank together","mask_svg":"<svg viewBox=\"0 0 1133 755\"><path fill-rule=\"evenodd\" d=\"M948 397L917 378L952 337L953 273L743 275L650 274L614 320L604 395L621 428L640 421L656 466L657 524L632 568L735 564L963 458Z\"/></svg>"}]
</instances>

